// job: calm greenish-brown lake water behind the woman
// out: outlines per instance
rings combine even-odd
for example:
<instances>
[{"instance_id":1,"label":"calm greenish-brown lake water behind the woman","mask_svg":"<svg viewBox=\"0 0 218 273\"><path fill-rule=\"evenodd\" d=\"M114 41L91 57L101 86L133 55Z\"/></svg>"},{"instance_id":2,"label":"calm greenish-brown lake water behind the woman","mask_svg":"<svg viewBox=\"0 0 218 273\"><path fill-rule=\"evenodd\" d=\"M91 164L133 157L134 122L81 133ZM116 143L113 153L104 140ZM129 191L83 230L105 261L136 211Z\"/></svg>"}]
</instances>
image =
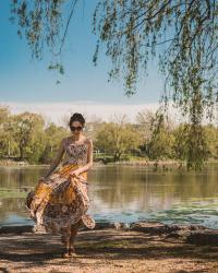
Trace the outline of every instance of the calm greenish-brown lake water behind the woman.
<instances>
[{"instance_id":1,"label":"calm greenish-brown lake water behind the woman","mask_svg":"<svg viewBox=\"0 0 218 273\"><path fill-rule=\"evenodd\" d=\"M24 207L41 167L0 168L0 225L33 223ZM218 164L203 173L98 166L88 174L89 213L96 221L193 223L218 228Z\"/></svg>"}]
</instances>

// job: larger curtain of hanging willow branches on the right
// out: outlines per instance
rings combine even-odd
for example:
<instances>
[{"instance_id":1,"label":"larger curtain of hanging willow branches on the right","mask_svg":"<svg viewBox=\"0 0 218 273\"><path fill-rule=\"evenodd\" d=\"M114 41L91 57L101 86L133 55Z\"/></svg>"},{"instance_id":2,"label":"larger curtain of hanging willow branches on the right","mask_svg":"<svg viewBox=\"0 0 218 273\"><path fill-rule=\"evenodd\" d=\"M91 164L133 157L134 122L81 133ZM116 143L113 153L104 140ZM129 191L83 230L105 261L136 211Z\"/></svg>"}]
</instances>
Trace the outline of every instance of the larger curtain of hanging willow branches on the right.
<instances>
[{"instance_id":1,"label":"larger curtain of hanging willow branches on the right","mask_svg":"<svg viewBox=\"0 0 218 273\"><path fill-rule=\"evenodd\" d=\"M213 118L218 98L218 2L210 0L104 0L93 31L112 60L110 78L123 76L128 95L136 91L149 58L159 58L166 75L162 102L172 100L189 118L189 168L203 167L204 114ZM204 150L205 149L205 150Z\"/></svg>"}]
</instances>

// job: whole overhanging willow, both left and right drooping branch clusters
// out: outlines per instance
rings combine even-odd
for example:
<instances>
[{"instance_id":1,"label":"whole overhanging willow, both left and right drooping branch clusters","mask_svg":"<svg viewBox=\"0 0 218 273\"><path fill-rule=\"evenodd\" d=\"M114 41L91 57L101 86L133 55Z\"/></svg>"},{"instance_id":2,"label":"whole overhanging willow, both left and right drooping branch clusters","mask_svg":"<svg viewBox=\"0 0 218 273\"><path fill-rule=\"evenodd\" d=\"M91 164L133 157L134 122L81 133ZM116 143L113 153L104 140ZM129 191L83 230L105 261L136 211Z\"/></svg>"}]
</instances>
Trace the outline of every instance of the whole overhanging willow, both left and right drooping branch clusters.
<instances>
[{"instance_id":1,"label":"whole overhanging willow, both left and right drooping branch clusters","mask_svg":"<svg viewBox=\"0 0 218 273\"><path fill-rule=\"evenodd\" d=\"M77 2L70 2L65 16L63 7L68 2L62 0L12 1L19 34L25 35L36 58L41 57L46 45L52 52L58 47L55 56L60 56ZM112 62L109 78L122 76L125 94L132 95L138 75L147 71L148 60L158 55L160 71L166 75L162 102L167 106L172 99L182 109L194 133L189 134L189 141L195 139L199 144L204 142L199 132L204 112L211 118L218 100L217 19L216 0L99 0L93 21L93 32L98 36L94 63L99 47L106 46ZM59 62L49 68L63 73ZM196 155L202 146L193 149ZM193 166L199 166L202 159L189 158Z\"/></svg>"}]
</instances>

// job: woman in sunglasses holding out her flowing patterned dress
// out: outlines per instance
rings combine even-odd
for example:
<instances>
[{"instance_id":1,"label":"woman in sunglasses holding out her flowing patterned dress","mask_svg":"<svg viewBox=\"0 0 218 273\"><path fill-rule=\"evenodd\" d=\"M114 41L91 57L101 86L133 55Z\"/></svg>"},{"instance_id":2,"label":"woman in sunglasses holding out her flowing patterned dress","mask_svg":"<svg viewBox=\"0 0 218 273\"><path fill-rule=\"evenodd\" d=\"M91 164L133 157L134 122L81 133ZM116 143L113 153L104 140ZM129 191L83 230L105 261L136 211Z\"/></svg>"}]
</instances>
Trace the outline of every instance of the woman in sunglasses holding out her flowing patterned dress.
<instances>
[{"instance_id":1,"label":"woman in sunglasses holding out her flowing patterned dress","mask_svg":"<svg viewBox=\"0 0 218 273\"><path fill-rule=\"evenodd\" d=\"M93 166L93 142L83 135L84 117L75 112L69 122L72 135L63 139L45 176L26 198L26 207L36 222L35 233L60 234L63 258L75 254L74 240L81 225L95 227L86 213L89 206L87 170ZM63 154L66 158L57 170Z\"/></svg>"}]
</instances>

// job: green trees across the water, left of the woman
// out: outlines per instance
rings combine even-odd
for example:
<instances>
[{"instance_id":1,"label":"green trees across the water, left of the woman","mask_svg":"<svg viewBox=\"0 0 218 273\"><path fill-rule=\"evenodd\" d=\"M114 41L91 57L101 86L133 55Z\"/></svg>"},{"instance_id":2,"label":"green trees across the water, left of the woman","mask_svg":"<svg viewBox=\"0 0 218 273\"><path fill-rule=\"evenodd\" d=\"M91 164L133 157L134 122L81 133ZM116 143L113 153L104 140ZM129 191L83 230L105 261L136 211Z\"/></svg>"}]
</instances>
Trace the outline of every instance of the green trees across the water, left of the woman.
<instances>
[{"instance_id":1,"label":"green trees across the water, left of the woman","mask_svg":"<svg viewBox=\"0 0 218 273\"><path fill-rule=\"evenodd\" d=\"M0 157L49 163L68 131L53 123L45 124L40 115L22 112L5 116L0 107Z\"/></svg>"}]
</instances>

